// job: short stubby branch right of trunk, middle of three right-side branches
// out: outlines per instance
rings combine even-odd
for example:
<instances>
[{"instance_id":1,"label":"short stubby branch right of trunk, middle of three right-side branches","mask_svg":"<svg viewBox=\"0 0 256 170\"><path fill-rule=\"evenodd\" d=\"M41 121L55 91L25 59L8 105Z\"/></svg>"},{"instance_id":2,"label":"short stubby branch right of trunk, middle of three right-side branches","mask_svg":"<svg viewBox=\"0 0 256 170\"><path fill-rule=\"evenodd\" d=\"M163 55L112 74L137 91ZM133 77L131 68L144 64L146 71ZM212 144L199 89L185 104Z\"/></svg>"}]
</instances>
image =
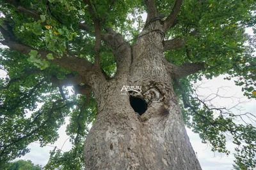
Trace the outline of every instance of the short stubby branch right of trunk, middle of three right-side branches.
<instances>
[{"instance_id":1,"label":"short stubby branch right of trunk, middle of three right-side branches","mask_svg":"<svg viewBox=\"0 0 256 170\"><path fill-rule=\"evenodd\" d=\"M163 44L164 44L163 51L166 52L168 50L177 50L179 48L186 46L186 41L185 39L175 38L175 39L163 41Z\"/></svg>"}]
</instances>

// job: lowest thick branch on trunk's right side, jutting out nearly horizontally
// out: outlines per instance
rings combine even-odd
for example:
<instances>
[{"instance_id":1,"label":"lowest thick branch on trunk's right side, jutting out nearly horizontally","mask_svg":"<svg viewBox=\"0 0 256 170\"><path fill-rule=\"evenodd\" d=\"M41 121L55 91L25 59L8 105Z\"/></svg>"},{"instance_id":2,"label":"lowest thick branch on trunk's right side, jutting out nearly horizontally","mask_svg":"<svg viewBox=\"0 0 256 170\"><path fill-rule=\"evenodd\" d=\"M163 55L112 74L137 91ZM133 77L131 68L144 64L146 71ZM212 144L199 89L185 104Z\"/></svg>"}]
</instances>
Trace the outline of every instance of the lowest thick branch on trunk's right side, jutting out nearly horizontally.
<instances>
[{"instance_id":1,"label":"lowest thick branch on trunk's right side, jutting out nearly horizontally","mask_svg":"<svg viewBox=\"0 0 256 170\"><path fill-rule=\"evenodd\" d=\"M175 66L174 64L168 63L168 70L173 78L189 76L204 69L204 63L185 63L182 66Z\"/></svg>"}]
</instances>

